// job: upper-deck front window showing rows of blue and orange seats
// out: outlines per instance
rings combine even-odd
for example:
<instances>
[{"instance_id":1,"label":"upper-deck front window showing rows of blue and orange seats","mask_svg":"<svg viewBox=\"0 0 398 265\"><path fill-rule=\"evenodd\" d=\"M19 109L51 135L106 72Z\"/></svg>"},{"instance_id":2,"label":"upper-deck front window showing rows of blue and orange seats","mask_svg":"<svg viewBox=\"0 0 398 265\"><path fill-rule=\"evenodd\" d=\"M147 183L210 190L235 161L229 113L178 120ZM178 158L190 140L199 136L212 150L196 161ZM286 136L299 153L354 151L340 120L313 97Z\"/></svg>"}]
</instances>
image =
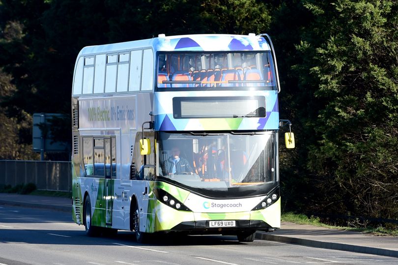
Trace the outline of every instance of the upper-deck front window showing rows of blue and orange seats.
<instances>
[{"instance_id":1,"label":"upper-deck front window showing rows of blue and orange seats","mask_svg":"<svg viewBox=\"0 0 398 265\"><path fill-rule=\"evenodd\" d=\"M269 51L158 54L157 90L276 89ZM225 89L225 88L224 88Z\"/></svg>"}]
</instances>

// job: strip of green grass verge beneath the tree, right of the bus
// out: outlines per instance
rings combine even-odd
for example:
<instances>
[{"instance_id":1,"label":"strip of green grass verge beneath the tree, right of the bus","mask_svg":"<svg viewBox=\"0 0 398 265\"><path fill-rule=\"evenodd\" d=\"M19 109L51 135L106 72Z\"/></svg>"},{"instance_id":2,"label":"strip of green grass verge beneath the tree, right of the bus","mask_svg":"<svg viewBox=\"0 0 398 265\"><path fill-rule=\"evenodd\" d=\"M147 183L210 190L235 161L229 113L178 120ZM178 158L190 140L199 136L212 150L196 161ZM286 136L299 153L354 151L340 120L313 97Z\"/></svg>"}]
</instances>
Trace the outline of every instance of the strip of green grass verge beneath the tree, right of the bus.
<instances>
[{"instance_id":1,"label":"strip of green grass verge beneath the tree, right of the bus","mask_svg":"<svg viewBox=\"0 0 398 265\"><path fill-rule=\"evenodd\" d=\"M344 226L331 226L328 224L324 224L320 221L318 217L311 216L307 217L305 214L296 214L292 212L283 213L281 216L282 222L291 222L295 224L303 224L303 225L313 225L319 227L325 227L330 229L339 229L345 231L356 231L365 234L371 234L374 236L398 236L397 229L387 229L384 227L365 227L365 228L353 228L353 227L344 227Z\"/></svg>"}]
</instances>

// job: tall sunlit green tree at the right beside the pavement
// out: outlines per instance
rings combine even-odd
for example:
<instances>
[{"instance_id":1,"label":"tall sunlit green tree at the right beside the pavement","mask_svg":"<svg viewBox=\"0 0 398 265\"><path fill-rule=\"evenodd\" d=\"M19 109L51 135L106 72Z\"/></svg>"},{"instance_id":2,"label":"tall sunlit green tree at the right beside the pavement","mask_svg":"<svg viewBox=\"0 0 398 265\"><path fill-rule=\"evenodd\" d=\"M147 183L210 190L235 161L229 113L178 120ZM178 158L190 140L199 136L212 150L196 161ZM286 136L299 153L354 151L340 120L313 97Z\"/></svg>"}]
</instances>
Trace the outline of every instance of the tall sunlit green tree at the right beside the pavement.
<instances>
[{"instance_id":1,"label":"tall sunlit green tree at the right beside the pavement","mask_svg":"<svg viewBox=\"0 0 398 265\"><path fill-rule=\"evenodd\" d=\"M313 209L398 217L398 2L306 1L296 69L318 101L308 167ZM308 88L307 87L307 88ZM310 99L309 102L312 102Z\"/></svg>"}]
</instances>

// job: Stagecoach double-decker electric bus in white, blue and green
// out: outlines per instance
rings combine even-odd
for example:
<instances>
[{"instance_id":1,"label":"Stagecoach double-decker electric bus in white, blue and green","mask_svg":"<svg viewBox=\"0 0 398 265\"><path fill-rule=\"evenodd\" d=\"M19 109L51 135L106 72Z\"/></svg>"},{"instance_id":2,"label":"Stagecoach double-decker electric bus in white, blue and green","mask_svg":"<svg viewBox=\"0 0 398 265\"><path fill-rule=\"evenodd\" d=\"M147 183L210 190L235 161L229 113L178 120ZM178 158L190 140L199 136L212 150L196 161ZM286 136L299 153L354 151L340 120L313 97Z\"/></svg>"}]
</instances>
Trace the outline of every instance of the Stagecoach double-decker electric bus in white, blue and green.
<instances>
[{"instance_id":1,"label":"Stagecoach double-decker electric bus in white, blue and green","mask_svg":"<svg viewBox=\"0 0 398 265\"><path fill-rule=\"evenodd\" d=\"M280 227L280 86L267 34L85 47L72 86L72 215L88 236L250 242Z\"/></svg>"}]
</instances>

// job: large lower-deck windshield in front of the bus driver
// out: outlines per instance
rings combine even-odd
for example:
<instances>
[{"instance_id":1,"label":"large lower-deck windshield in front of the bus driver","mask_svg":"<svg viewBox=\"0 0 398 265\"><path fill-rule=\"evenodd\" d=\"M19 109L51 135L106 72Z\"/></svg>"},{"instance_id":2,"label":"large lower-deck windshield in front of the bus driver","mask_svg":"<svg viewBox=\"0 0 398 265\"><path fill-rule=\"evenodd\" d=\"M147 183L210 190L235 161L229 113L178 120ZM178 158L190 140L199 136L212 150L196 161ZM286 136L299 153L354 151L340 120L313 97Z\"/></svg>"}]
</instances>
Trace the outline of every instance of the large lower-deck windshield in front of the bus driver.
<instances>
[{"instance_id":1,"label":"large lower-deck windshield in front of the bus driver","mask_svg":"<svg viewBox=\"0 0 398 265\"><path fill-rule=\"evenodd\" d=\"M212 190L276 181L274 131L158 132L158 178Z\"/></svg>"}]
</instances>

